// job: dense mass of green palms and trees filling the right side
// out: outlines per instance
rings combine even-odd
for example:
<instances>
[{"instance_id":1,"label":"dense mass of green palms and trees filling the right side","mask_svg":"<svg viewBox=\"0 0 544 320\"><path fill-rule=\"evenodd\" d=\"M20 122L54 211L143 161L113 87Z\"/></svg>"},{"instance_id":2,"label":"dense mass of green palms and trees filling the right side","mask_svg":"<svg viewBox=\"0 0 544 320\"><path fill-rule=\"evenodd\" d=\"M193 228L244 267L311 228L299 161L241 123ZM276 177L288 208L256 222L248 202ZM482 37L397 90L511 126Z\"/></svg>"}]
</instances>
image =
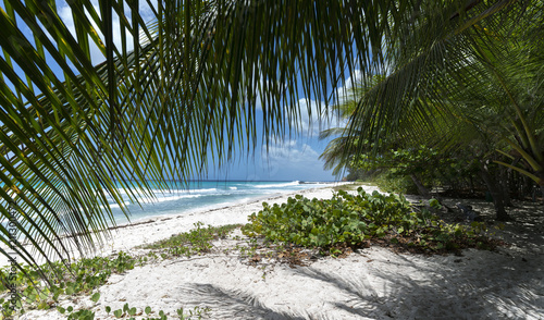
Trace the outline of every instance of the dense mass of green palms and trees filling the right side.
<instances>
[{"instance_id":1,"label":"dense mass of green palms and trees filling the right side","mask_svg":"<svg viewBox=\"0 0 544 320\"><path fill-rule=\"evenodd\" d=\"M462 190L483 187L496 219L508 220L511 196L544 195L544 54L535 36L544 2L512 1L492 13L472 1L467 14L486 19L454 33L436 32L434 23L458 15L422 3L425 21L396 38L388 70L360 77L335 107L347 127L335 131L341 137L322 158L348 168L350 179L376 169L408 177L424 196L459 187L460 176ZM517 9L528 15L512 20ZM428 153L421 145L435 155L420 157Z\"/></svg>"}]
</instances>

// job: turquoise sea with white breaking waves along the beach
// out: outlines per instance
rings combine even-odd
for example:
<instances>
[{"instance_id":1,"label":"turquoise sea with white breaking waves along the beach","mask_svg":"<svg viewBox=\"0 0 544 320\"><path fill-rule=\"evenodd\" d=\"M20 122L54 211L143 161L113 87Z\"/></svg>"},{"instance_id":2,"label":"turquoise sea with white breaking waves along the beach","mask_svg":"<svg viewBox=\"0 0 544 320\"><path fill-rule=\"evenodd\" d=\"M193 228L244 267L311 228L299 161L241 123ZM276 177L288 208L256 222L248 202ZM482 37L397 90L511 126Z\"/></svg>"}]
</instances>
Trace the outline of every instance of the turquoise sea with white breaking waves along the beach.
<instances>
[{"instance_id":1,"label":"turquoise sea with white breaking waves along the beach","mask_svg":"<svg viewBox=\"0 0 544 320\"><path fill-rule=\"evenodd\" d=\"M242 181L200 181L191 182L188 188L176 188L170 192L154 190L156 198L140 197L140 205L131 204L126 193L120 189L131 212L131 221L157 217L183 214L207 209L222 208L242 202L263 199L270 196L293 193L296 190L324 187L333 183L311 183L298 181L271 181L271 182L242 182ZM119 205L111 201L111 208L116 223L126 223L127 220Z\"/></svg>"}]
</instances>

